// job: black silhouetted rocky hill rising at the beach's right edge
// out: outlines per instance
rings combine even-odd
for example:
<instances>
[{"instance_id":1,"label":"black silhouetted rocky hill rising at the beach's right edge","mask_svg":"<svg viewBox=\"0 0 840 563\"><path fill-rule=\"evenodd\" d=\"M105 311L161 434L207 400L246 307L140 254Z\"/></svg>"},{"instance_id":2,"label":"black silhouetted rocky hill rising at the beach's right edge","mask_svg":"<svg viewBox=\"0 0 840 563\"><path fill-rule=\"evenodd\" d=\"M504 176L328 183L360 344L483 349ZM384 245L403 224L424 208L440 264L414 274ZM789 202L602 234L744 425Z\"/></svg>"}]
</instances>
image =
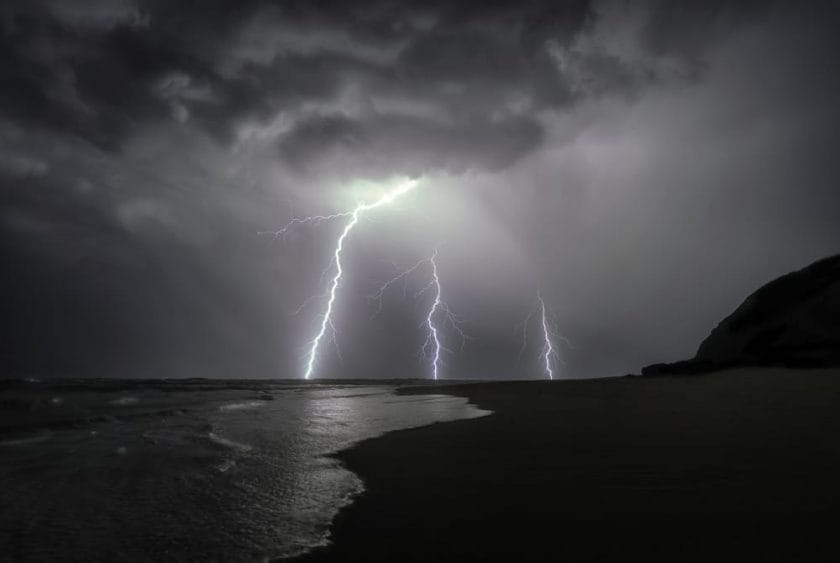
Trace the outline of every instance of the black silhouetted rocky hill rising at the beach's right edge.
<instances>
[{"instance_id":1,"label":"black silhouetted rocky hill rising at the beach's right edge","mask_svg":"<svg viewBox=\"0 0 840 563\"><path fill-rule=\"evenodd\" d=\"M768 283L715 327L694 358L642 375L740 366L840 367L840 255Z\"/></svg>"}]
</instances>

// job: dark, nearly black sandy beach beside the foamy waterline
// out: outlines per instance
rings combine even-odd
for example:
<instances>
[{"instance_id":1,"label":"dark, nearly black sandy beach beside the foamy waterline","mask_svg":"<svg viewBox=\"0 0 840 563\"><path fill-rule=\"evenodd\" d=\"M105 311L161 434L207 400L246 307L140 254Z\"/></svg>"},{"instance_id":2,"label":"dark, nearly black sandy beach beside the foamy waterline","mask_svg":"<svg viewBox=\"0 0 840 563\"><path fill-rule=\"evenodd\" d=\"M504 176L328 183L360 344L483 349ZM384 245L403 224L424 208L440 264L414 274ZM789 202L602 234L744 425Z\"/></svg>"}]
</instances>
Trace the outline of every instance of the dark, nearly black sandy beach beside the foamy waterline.
<instances>
[{"instance_id":1,"label":"dark, nearly black sandy beach beside the foamy waterline","mask_svg":"<svg viewBox=\"0 0 840 563\"><path fill-rule=\"evenodd\" d=\"M840 560L840 370L408 390L495 414L342 452L305 561Z\"/></svg>"}]
</instances>

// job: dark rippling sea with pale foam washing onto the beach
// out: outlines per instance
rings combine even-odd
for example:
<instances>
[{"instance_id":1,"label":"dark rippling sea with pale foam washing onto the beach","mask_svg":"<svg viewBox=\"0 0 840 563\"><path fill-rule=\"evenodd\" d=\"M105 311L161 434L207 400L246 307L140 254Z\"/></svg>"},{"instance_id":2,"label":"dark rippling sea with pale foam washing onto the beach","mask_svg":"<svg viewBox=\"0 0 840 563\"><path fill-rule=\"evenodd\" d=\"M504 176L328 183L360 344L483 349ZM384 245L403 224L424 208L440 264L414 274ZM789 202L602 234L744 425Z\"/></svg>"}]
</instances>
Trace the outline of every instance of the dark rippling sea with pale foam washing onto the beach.
<instances>
[{"instance_id":1,"label":"dark rippling sea with pale foam washing onto the beach","mask_svg":"<svg viewBox=\"0 0 840 563\"><path fill-rule=\"evenodd\" d=\"M0 560L266 561L363 491L329 456L487 414L399 383L0 381Z\"/></svg>"}]
</instances>

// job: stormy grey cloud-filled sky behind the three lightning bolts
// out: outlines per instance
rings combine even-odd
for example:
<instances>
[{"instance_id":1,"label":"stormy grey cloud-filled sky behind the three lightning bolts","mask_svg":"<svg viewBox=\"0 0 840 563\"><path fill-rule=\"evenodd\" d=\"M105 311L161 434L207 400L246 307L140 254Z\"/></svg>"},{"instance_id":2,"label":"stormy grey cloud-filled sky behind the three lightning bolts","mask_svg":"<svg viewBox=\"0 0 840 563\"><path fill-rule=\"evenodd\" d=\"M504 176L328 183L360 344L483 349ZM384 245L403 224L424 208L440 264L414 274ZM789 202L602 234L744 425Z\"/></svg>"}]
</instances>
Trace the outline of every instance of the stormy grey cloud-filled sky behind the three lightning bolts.
<instances>
[{"instance_id":1,"label":"stormy grey cloud-filled sky behind the three lightning bolts","mask_svg":"<svg viewBox=\"0 0 840 563\"><path fill-rule=\"evenodd\" d=\"M831 2L0 6L2 376L558 377L690 357L840 251ZM325 275L326 270L326 275ZM339 354L340 351L340 354Z\"/></svg>"}]
</instances>

